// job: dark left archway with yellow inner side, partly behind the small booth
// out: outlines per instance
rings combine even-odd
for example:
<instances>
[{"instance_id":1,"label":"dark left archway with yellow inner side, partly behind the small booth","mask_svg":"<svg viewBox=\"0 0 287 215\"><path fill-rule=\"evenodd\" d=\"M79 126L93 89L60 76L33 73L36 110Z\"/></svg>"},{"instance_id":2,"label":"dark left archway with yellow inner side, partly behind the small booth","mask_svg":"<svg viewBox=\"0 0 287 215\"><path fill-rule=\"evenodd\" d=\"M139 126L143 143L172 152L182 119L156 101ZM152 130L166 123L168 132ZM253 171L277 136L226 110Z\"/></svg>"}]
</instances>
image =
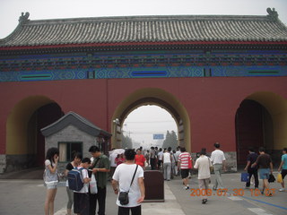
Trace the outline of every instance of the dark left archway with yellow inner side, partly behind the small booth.
<instances>
[{"instance_id":1,"label":"dark left archway with yellow inner side, partly behind the small booth","mask_svg":"<svg viewBox=\"0 0 287 215\"><path fill-rule=\"evenodd\" d=\"M16 104L6 123L6 171L42 166L45 140L39 130L61 116L61 107L44 96L31 96Z\"/></svg>"}]
</instances>

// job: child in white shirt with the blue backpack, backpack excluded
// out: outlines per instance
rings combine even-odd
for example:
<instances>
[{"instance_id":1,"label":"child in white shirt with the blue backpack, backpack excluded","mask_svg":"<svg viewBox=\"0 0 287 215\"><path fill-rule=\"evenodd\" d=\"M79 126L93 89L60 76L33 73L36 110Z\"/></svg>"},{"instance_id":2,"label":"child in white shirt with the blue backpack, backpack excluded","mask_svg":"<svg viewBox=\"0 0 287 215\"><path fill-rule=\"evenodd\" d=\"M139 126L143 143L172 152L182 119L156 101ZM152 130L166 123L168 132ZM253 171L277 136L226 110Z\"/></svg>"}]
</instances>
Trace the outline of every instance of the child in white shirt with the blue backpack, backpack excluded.
<instances>
[{"instance_id":1,"label":"child in white shirt with the blue backpack, backpack excluded","mask_svg":"<svg viewBox=\"0 0 287 215\"><path fill-rule=\"evenodd\" d=\"M91 159L84 158L78 169L83 168L83 188L80 191L74 191L74 213L78 215L89 215L89 182L91 178L88 175L88 168L91 165Z\"/></svg>"}]
</instances>

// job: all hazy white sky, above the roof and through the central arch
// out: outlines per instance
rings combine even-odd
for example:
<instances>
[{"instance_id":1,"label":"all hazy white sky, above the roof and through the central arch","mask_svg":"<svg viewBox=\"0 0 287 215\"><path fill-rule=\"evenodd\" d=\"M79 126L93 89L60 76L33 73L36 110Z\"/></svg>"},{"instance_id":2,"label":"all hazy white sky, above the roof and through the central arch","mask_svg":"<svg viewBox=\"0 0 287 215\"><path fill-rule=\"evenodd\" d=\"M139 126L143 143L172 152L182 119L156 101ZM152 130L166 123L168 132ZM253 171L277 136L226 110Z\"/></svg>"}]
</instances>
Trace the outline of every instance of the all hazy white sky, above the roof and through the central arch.
<instances>
[{"instance_id":1,"label":"all hazy white sky, above the roof and through the central arch","mask_svg":"<svg viewBox=\"0 0 287 215\"><path fill-rule=\"evenodd\" d=\"M266 15L275 8L279 19L287 24L287 0L0 0L0 39L18 25L22 12L30 20L98 16L225 14ZM138 142L153 142L152 133L176 130L170 114L161 107L139 107L123 127ZM130 133L129 133L130 132Z\"/></svg>"}]
</instances>

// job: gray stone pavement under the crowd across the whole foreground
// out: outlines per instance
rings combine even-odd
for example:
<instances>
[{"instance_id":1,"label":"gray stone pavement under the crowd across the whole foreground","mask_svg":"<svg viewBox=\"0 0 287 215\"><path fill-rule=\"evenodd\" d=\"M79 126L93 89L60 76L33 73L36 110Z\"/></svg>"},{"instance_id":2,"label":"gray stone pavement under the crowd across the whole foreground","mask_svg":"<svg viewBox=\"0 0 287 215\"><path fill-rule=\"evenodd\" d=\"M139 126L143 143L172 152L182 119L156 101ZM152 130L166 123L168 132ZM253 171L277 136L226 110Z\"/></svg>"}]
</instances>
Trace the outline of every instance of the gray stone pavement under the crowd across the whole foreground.
<instances>
[{"instance_id":1,"label":"gray stone pavement under the crowd across the whole foreground","mask_svg":"<svg viewBox=\"0 0 287 215\"><path fill-rule=\"evenodd\" d=\"M165 181L165 202L144 202L142 205L143 215L287 214L287 192L279 192L278 189L280 185L278 183L271 184L271 188L275 189L273 197L251 196L251 191L243 189L244 183L240 182L239 176L239 173L223 174L223 183L228 189L228 192L213 192L212 195L208 197L206 204L201 203L202 196L191 196L191 190L184 190L179 177L171 181ZM212 184L210 185L211 188L213 185L213 177L214 176L212 176ZM198 188L196 176L192 176L190 188L195 189L195 191ZM242 196L235 196L237 191L239 191L239 194ZM42 180L0 179L0 215L44 214L45 194L46 187L42 185ZM55 201L56 215L65 214L66 198L65 183L61 183L58 186ZM111 185L109 184L106 204L107 215L117 214L116 198L117 196L113 193Z\"/></svg>"}]
</instances>

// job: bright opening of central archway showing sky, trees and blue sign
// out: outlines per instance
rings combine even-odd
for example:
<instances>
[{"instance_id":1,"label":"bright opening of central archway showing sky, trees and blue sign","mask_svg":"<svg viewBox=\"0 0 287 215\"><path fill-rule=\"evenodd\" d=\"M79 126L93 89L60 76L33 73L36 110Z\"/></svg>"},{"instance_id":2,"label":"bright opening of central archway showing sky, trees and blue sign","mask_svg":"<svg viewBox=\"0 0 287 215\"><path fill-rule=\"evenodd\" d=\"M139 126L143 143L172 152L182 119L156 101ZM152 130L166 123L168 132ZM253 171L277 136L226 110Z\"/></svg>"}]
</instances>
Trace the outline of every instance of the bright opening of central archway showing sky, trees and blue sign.
<instances>
[{"instance_id":1,"label":"bright opening of central archway showing sky, trees and blue sign","mask_svg":"<svg viewBox=\"0 0 287 215\"><path fill-rule=\"evenodd\" d=\"M157 105L133 110L126 116L121 133L123 148L178 147L178 125L166 109Z\"/></svg>"}]
</instances>

